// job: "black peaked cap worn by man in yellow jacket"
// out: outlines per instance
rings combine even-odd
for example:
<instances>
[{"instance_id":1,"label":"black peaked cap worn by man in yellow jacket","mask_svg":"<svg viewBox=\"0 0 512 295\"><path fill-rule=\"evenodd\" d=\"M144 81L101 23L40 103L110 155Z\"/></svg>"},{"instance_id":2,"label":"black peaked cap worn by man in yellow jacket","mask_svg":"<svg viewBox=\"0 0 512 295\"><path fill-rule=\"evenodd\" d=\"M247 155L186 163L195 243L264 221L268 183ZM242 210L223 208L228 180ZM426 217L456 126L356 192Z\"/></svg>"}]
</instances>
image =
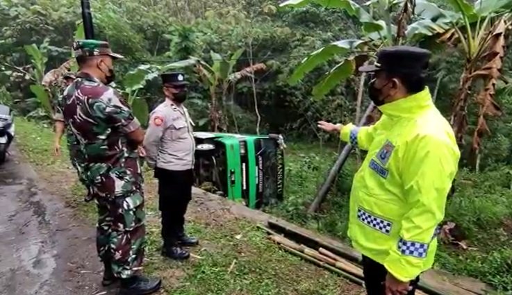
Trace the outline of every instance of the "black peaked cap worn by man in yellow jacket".
<instances>
[{"instance_id":1,"label":"black peaked cap worn by man in yellow jacket","mask_svg":"<svg viewBox=\"0 0 512 295\"><path fill-rule=\"evenodd\" d=\"M363 65L359 71L386 71L388 73L421 73L429 67L431 53L427 49L410 46L386 47L377 52L377 62Z\"/></svg>"}]
</instances>

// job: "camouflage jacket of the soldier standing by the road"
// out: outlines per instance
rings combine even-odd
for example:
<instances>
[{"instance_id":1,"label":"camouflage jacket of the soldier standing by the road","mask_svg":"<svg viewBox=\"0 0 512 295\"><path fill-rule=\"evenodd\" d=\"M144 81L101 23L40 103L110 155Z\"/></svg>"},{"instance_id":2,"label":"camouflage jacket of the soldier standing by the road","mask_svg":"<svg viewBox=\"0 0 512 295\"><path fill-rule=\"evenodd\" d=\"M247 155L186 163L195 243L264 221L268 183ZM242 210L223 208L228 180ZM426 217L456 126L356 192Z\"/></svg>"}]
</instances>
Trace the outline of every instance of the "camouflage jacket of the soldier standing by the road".
<instances>
[{"instance_id":1,"label":"camouflage jacket of the soldier standing by the road","mask_svg":"<svg viewBox=\"0 0 512 295\"><path fill-rule=\"evenodd\" d=\"M64 120L83 156L82 173L90 194L112 198L140 187L137 146L126 136L140 124L120 94L89 74L79 73L63 103Z\"/></svg>"}]
</instances>

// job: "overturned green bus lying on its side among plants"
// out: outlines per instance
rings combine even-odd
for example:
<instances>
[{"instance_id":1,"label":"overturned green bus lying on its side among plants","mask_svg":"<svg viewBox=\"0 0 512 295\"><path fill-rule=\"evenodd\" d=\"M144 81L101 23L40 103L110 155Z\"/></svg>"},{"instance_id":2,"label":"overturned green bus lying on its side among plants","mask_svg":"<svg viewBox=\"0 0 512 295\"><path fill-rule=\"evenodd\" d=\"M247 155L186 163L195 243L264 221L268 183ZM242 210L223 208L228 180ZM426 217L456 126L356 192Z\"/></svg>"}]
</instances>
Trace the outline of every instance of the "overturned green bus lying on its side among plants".
<instances>
[{"instance_id":1,"label":"overturned green bus lying on its side among plants","mask_svg":"<svg viewBox=\"0 0 512 295\"><path fill-rule=\"evenodd\" d=\"M260 209L283 200L281 135L194 133L197 187ZM206 185L207 186L207 185Z\"/></svg>"}]
</instances>

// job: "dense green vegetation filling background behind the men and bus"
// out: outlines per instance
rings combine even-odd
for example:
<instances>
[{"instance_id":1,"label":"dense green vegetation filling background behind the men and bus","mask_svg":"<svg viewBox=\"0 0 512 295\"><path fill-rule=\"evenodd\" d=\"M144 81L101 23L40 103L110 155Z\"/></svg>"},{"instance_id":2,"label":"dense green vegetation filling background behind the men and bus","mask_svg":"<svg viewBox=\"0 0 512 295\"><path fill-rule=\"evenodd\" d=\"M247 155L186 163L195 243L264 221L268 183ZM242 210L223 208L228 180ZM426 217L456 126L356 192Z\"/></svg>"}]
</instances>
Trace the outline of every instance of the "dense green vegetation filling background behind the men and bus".
<instances>
[{"instance_id":1,"label":"dense green vegetation filling background behind the men and bus","mask_svg":"<svg viewBox=\"0 0 512 295\"><path fill-rule=\"evenodd\" d=\"M354 1L362 2L365 1ZM451 3L465 3L462 0L431 2L439 2L445 9L449 9ZM144 108L149 106L150 109L161 99L154 73L190 56L201 60L199 66L184 68L194 85L188 107L199 129L207 130L215 125L209 111L214 94L219 101L217 112L222 114L217 126L221 130L286 135L291 142L286 160L286 202L269 210L346 239L347 196L358 163L355 154L340 174L321 212L307 216L305 205L311 203L317 186L336 158L338 144L334 137L319 133L315 122L319 119L354 121L360 81L358 76L350 75L352 71L348 74L337 71L338 76L327 83L331 90L322 93L314 87L332 67L347 65L343 64L346 54L322 63L308 74L306 71L294 74L294 71L304 58L311 58L310 53L331 42L370 38L368 30L361 30L361 23L353 20L354 15L347 10L318 5L279 8L275 1L265 0L97 0L92 1L92 10L97 38L108 40L115 51L126 56L126 60L116 64L119 77L116 82L138 110L138 116L144 116ZM377 12L375 15L384 17ZM417 18L412 17L411 22L418 21ZM0 0L1 103L13 106L17 115L49 120L49 104L34 85L40 85L45 73L70 58L70 45L74 37L81 34L77 30L80 19L79 1ZM452 46L437 44L429 38L435 34L428 30L422 32L421 36L411 39L404 36L404 43L420 42L435 53L429 70L429 87L432 92L436 90L438 108L450 117L461 74L475 70L466 67L468 56L477 60L485 56L469 54L460 41ZM393 37L374 40L370 49L375 44L394 44L395 41ZM510 38L506 42L511 44ZM361 62L356 58L361 52L355 53L356 63ZM215 76L216 62L217 65L224 62L232 69L224 74L217 73L215 83L204 75L197 75ZM259 64L263 66L256 67ZM256 72L254 76L250 69ZM502 74L510 75L511 70L512 55L509 54L504 57ZM290 76L300 82L290 85ZM338 84L340 81L342 83ZM463 250L459 246L445 245L436 267L481 278L510 291L512 91L502 82L496 82L494 100L501 106L502 114L487 118L492 133L479 142L475 163L471 138L475 130L483 127L478 120L481 106L470 103L467 128L462 128L467 140L461 145L461 171L456 193L447 207L447 221L461 228L465 244L470 248ZM479 83L475 82L474 87L481 87ZM336 85L338 87L334 87ZM479 92L477 88L470 90L475 94ZM315 98L313 90L316 90ZM478 132L479 137L483 134ZM475 167L478 172L474 171Z\"/></svg>"}]
</instances>

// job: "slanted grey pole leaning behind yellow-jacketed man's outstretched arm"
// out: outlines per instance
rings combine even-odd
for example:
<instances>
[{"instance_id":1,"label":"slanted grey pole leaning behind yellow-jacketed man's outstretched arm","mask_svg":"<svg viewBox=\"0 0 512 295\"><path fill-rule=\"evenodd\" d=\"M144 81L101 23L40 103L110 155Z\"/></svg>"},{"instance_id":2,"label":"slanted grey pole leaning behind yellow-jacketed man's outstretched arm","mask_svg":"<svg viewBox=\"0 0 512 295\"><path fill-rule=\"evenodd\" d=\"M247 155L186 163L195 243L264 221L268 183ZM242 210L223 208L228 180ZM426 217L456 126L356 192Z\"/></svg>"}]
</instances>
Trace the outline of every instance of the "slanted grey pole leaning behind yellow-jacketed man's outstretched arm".
<instances>
[{"instance_id":1,"label":"slanted grey pole leaning behind yellow-jacketed man's outstretched arm","mask_svg":"<svg viewBox=\"0 0 512 295\"><path fill-rule=\"evenodd\" d=\"M363 115L363 118L359 122L359 126L364 126L367 123L368 117L370 116L370 113L372 112L373 108L374 104L370 103L370 106L368 106L368 108L365 111L365 115ZM347 158L349 158L349 154L352 151L352 149L354 149L354 146L352 146L352 144L347 144L341 151L340 155L338 155L338 159L336 159L336 162L334 162L331 171L329 171L327 179L325 180L322 187L320 187L320 189L318 190L315 200L309 206L308 213L311 214L318 210L320 204L322 203L322 201L324 201L325 196L327 196L327 193L329 193L329 190L331 189L331 186L334 183L336 176L338 176L341 168L343 167L343 165L345 165L345 162L347 162Z\"/></svg>"}]
</instances>

